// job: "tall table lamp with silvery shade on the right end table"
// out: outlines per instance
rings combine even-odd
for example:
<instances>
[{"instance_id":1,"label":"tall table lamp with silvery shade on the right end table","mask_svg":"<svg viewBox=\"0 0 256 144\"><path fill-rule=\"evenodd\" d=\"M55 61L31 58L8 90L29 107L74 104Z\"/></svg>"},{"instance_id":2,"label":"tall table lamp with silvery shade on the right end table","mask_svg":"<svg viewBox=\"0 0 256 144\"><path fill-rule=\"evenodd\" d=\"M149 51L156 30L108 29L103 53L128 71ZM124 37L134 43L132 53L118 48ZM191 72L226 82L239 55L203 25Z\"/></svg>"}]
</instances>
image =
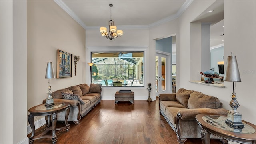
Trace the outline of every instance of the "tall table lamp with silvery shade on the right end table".
<instances>
[{"instance_id":1,"label":"tall table lamp with silvery shade on the right end table","mask_svg":"<svg viewBox=\"0 0 256 144\"><path fill-rule=\"evenodd\" d=\"M232 100L229 103L232 109L228 111L228 118L225 122L231 128L242 129L244 128L244 124L242 123L242 114L239 114L239 112L237 111L237 108L240 106L240 104L236 100L236 93L234 87L234 82L241 82L241 78L238 64L236 61L236 56L232 56L232 53L231 56L228 56L223 80L233 82L233 93L231 97Z\"/></svg>"}]
</instances>

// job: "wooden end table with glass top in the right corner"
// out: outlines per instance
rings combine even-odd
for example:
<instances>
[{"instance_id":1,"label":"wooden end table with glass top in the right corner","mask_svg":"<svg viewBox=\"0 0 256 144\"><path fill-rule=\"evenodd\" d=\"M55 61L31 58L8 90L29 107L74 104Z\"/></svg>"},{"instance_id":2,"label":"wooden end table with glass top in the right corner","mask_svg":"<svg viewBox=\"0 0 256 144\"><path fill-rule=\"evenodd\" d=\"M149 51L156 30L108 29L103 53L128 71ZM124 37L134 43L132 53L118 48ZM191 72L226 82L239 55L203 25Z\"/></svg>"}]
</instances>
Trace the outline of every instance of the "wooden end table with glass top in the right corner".
<instances>
[{"instance_id":1,"label":"wooden end table with glass top in the right corner","mask_svg":"<svg viewBox=\"0 0 256 144\"><path fill-rule=\"evenodd\" d=\"M198 114L196 121L202 128L201 137L203 144L210 144L210 135L213 134L225 140L243 143L243 144L256 144L256 126L249 122L244 123L243 129L234 129L225 123L227 116L219 114Z\"/></svg>"}]
</instances>

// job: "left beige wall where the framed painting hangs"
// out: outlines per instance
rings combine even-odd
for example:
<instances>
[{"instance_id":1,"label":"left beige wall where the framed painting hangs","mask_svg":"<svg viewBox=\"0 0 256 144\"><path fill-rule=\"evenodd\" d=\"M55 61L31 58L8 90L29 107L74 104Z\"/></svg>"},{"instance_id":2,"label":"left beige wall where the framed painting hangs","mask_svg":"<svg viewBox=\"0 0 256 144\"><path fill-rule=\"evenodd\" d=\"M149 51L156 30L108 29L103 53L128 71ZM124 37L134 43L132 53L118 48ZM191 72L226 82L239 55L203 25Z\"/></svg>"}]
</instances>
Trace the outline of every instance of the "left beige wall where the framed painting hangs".
<instances>
[{"instance_id":1,"label":"left beige wall where the framed painting hangs","mask_svg":"<svg viewBox=\"0 0 256 144\"><path fill-rule=\"evenodd\" d=\"M85 30L54 1L27 2L28 23L28 109L47 97L46 65L52 61L57 74L57 49L80 56L72 78L51 79L52 91L86 81ZM28 113L29 114L29 113Z\"/></svg>"}]
</instances>

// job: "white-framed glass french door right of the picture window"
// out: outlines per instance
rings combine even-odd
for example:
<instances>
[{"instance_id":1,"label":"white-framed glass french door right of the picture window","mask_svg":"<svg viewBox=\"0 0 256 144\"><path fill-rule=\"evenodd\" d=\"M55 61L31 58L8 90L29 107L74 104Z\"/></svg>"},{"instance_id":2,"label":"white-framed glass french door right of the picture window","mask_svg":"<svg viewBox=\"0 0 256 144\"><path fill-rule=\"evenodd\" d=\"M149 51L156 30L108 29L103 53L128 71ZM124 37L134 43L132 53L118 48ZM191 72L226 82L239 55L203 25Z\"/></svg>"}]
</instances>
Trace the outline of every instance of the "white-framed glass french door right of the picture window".
<instances>
[{"instance_id":1,"label":"white-framed glass french door right of the picture window","mask_svg":"<svg viewBox=\"0 0 256 144\"><path fill-rule=\"evenodd\" d=\"M156 54L156 96L166 92L166 66L168 66L166 55Z\"/></svg>"}]
</instances>

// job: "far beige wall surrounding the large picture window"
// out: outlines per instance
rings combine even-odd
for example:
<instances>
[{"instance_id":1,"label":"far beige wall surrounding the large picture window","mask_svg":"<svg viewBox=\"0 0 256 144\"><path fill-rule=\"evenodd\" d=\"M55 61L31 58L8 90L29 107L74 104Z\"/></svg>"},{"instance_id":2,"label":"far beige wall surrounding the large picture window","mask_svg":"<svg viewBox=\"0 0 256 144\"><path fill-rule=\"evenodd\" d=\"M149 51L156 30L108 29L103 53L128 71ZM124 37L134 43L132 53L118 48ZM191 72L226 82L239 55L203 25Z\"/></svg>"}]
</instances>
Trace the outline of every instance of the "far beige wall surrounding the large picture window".
<instances>
[{"instance_id":1,"label":"far beige wall surrounding the large picture window","mask_svg":"<svg viewBox=\"0 0 256 144\"><path fill-rule=\"evenodd\" d=\"M134 92L134 100L146 100L148 98L148 74L149 67L148 59L149 53L154 53L148 47L148 29L125 29L117 26L118 29L123 30L124 35L114 40L108 40L103 38L100 34L99 29L89 29L86 30L86 62L90 62L90 52L97 51L145 51L145 87L127 87L122 89L132 89ZM89 83L90 67L86 66L86 83ZM102 99L103 100L114 100L115 92L120 90L120 88L106 88L102 87ZM153 95L153 94L152 94ZM152 97L156 99L156 97Z\"/></svg>"}]
</instances>

